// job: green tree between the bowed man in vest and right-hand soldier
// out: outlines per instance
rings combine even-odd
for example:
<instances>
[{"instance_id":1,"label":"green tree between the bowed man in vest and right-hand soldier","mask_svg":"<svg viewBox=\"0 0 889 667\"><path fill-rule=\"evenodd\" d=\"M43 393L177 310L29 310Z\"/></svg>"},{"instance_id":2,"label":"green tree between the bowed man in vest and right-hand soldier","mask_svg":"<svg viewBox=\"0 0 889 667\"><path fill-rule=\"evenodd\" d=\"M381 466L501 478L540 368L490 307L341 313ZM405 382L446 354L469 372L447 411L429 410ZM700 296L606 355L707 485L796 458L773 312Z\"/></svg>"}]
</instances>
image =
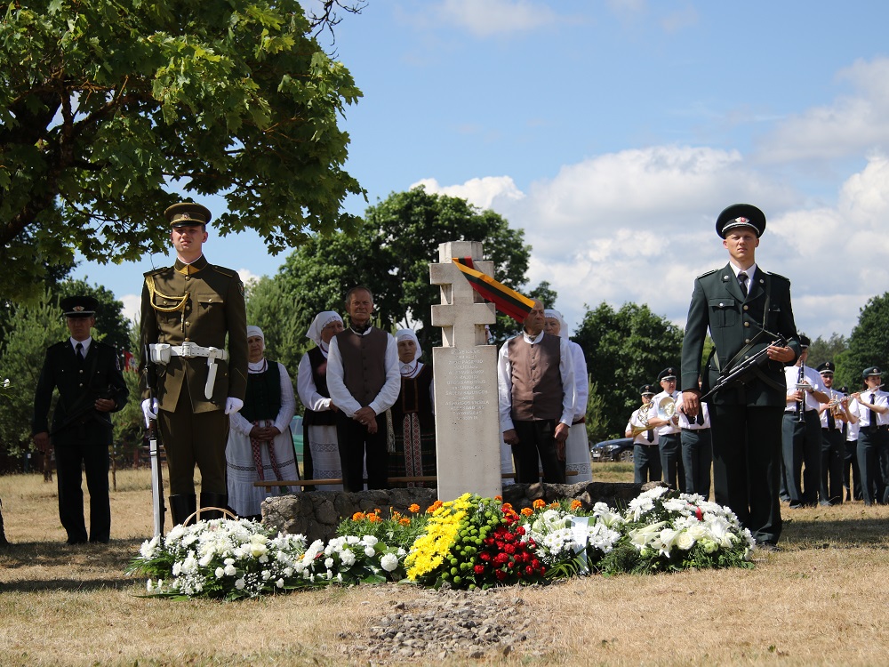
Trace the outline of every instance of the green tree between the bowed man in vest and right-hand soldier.
<instances>
[{"instance_id":1,"label":"green tree between the bowed man in vest and right-hand soldier","mask_svg":"<svg viewBox=\"0 0 889 667\"><path fill-rule=\"evenodd\" d=\"M572 340L587 360L589 405L604 410L593 423L605 426L590 432L590 438L623 436L629 414L640 405L639 387L656 384L667 366L679 366L682 335L682 329L645 305L625 303L615 310L603 301L595 310L588 308Z\"/></svg>"}]
</instances>

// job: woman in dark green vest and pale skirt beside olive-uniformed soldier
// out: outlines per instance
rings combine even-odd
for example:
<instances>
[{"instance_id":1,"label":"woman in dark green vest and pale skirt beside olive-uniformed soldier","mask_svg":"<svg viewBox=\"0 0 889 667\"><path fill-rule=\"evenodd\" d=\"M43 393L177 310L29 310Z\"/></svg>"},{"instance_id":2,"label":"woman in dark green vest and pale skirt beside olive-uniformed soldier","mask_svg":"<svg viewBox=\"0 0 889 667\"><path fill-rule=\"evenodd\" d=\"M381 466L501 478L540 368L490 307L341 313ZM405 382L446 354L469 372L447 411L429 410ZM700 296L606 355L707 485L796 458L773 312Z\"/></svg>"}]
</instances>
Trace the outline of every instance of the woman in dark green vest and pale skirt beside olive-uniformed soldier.
<instances>
[{"instance_id":1,"label":"woman in dark green vest and pale skirt beside olive-uniformed soldier","mask_svg":"<svg viewBox=\"0 0 889 667\"><path fill-rule=\"evenodd\" d=\"M283 365L264 357L265 336L247 327L247 393L240 412L228 415L226 462L228 505L241 517L258 518L269 495L287 486L253 486L255 481L299 479L290 421L296 409L293 383Z\"/></svg>"}]
</instances>

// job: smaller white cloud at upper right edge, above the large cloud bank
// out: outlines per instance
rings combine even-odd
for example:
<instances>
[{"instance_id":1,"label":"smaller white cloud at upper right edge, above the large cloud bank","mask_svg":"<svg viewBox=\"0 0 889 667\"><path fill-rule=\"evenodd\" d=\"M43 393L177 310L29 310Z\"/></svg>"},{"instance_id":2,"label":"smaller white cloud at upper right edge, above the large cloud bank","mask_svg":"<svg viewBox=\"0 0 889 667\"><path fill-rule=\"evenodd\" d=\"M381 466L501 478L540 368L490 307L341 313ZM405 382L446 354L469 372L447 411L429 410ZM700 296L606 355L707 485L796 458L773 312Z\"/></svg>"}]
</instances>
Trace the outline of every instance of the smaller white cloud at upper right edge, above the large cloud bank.
<instances>
[{"instance_id":1,"label":"smaller white cloud at upper right edge, above the large cloud bank","mask_svg":"<svg viewBox=\"0 0 889 667\"><path fill-rule=\"evenodd\" d=\"M853 94L789 117L759 142L766 162L836 159L889 150L889 58L858 60L837 79Z\"/></svg>"}]
</instances>

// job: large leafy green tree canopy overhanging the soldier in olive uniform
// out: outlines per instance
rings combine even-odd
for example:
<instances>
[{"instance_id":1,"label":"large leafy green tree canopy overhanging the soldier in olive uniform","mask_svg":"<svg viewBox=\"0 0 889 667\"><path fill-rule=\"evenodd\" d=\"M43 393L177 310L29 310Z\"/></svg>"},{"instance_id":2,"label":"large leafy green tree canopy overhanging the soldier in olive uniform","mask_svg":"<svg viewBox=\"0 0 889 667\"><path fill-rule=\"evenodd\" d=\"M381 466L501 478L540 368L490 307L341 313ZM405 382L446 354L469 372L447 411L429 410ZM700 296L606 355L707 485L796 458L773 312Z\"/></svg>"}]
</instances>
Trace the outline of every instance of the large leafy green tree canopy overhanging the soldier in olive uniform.
<instances>
[{"instance_id":1,"label":"large leafy green tree canopy overhanging the soldier in olive uniform","mask_svg":"<svg viewBox=\"0 0 889 667\"><path fill-rule=\"evenodd\" d=\"M328 3L329 4L329 3ZM328 4L324 4L327 7ZM295 0L43 0L0 20L0 283L164 251L163 211L220 194L272 253L354 229L337 125L361 92ZM14 279L13 279L14 277ZM30 277L31 280L23 280Z\"/></svg>"}]
</instances>

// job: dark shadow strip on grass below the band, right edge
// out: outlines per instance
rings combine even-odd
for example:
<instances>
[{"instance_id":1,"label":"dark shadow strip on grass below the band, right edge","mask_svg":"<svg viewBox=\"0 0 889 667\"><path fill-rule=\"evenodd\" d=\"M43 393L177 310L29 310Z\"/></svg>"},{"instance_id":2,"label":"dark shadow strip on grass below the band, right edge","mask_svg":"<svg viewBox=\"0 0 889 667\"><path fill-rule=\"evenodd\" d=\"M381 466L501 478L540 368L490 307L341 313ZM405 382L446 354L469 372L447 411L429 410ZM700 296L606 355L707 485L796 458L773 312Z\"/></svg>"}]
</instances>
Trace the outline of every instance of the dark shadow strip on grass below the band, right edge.
<instances>
[{"instance_id":1,"label":"dark shadow strip on grass below the band, right edge","mask_svg":"<svg viewBox=\"0 0 889 667\"><path fill-rule=\"evenodd\" d=\"M800 550L889 549L889 519L787 519L781 533L781 546Z\"/></svg>"}]
</instances>

